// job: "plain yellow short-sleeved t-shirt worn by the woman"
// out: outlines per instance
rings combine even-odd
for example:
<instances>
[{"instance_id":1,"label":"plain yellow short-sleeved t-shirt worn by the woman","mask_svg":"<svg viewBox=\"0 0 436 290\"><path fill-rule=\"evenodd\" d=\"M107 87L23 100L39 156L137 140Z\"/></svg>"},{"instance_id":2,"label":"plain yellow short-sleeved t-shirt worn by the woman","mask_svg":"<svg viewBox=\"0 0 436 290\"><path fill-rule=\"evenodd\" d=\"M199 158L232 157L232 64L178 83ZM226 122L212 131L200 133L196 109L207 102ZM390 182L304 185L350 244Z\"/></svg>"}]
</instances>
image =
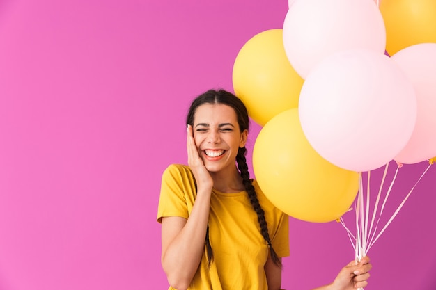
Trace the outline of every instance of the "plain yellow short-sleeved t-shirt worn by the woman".
<instances>
[{"instance_id":1,"label":"plain yellow short-sleeved t-shirt worn by the woman","mask_svg":"<svg viewBox=\"0 0 436 290\"><path fill-rule=\"evenodd\" d=\"M289 255L288 216L267 200L256 180L253 185L265 211L272 247L279 257L286 257ZM169 166L162 175L157 221L165 216L189 218L195 197L196 186L189 166ZM208 223L214 261L208 268L205 247L188 289L267 290L263 267L269 249L260 234L258 217L247 192L220 193L213 189Z\"/></svg>"}]
</instances>

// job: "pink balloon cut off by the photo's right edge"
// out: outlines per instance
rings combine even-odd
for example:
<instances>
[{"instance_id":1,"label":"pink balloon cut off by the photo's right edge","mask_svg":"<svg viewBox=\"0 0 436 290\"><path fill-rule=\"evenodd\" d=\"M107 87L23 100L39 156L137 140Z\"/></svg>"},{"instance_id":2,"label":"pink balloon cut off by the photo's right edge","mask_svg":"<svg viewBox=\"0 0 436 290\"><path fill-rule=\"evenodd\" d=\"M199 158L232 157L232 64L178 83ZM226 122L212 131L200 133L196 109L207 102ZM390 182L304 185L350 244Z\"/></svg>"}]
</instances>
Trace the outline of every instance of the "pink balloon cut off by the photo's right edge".
<instances>
[{"instance_id":1,"label":"pink balloon cut off by the photo's right edge","mask_svg":"<svg viewBox=\"0 0 436 290\"><path fill-rule=\"evenodd\" d=\"M391 58L412 82L418 105L412 137L395 160L410 164L433 158L436 156L436 43L412 45Z\"/></svg>"}]
</instances>

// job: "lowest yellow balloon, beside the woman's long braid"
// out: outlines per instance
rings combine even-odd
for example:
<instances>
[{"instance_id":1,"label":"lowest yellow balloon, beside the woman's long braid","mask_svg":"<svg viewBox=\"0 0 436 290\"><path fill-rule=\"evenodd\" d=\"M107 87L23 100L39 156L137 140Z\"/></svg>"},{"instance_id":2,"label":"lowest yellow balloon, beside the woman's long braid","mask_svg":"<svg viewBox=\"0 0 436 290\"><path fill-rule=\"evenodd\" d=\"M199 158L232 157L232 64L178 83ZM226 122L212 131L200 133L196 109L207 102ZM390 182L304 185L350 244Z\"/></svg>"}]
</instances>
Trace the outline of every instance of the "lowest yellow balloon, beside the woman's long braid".
<instances>
[{"instance_id":1,"label":"lowest yellow balloon, beside the woman's long braid","mask_svg":"<svg viewBox=\"0 0 436 290\"><path fill-rule=\"evenodd\" d=\"M253 169L272 204L289 216L313 223L340 218L359 189L358 172L334 166L311 147L297 108L279 113L260 130Z\"/></svg>"}]
</instances>

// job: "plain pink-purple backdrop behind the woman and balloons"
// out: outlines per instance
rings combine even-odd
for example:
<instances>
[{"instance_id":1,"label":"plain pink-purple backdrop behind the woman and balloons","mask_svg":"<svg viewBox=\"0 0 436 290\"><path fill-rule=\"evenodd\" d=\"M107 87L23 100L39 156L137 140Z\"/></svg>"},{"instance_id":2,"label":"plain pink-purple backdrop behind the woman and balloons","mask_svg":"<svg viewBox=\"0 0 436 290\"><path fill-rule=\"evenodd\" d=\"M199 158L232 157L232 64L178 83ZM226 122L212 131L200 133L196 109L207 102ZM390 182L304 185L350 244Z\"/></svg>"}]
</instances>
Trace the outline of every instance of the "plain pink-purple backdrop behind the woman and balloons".
<instances>
[{"instance_id":1,"label":"plain pink-purple backdrop behind the woman and balloons","mask_svg":"<svg viewBox=\"0 0 436 290\"><path fill-rule=\"evenodd\" d=\"M287 9L286 0L1 1L0 289L166 289L155 217L162 171L186 162L189 101L232 90L242 45L281 28ZM400 169L389 214L426 166ZM371 249L366 289L435 289L435 191L432 167ZM354 259L336 222L290 218L290 250L286 289L330 282Z\"/></svg>"}]
</instances>

